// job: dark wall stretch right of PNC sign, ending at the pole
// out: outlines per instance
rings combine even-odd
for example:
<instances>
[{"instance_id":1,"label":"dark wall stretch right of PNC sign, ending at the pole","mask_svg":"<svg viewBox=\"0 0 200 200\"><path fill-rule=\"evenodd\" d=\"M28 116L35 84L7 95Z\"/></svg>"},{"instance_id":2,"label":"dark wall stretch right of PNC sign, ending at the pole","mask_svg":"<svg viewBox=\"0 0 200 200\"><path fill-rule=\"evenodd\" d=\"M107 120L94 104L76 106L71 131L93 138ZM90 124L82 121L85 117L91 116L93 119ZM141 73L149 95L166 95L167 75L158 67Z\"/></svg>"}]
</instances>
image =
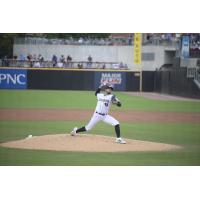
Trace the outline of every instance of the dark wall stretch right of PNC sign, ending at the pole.
<instances>
[{"instance_id":1,"label":"dark wall stretch right of PNC sign, ending at the pole","mask_svg":"<svg viewBox=\"0 0 200 200\"><path fill-rule=\"evenodd\" d=\"M116 91L138 91L139 77L135 72L29 70L28 89L96 90L102 81L115 85Z\"/></svg>"}]
</instances>

